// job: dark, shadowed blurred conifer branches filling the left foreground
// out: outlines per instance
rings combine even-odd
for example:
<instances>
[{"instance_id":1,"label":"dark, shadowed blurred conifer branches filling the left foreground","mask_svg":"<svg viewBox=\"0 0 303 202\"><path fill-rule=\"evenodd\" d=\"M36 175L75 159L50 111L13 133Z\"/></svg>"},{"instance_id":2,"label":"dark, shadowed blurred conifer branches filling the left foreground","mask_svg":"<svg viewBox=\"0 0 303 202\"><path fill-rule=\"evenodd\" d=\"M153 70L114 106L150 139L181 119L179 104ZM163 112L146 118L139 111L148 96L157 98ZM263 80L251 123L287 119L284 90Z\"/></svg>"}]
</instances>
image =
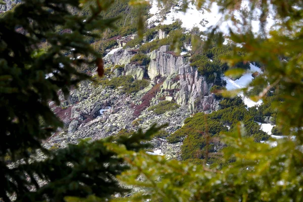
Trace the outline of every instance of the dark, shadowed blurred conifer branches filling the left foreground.
<instances>
[{"instance_id":1,"label":"dark, shadowed blurred conifer branches filling the left foreground","mask_svg":"<svg viewBox=\"0 0 303 202\"><path fill-rule=\"evenodd\" d=\"M87 42L93 31L113 28L115 18L103 18L113 1L96 1L90 15L72 15L87 1L24 0L0 18L0 198L3 201L64 201L65 196L109 198L126 189L114 178L127 169L106 144L115 141L138 150L159 129L134 133L129 138L82 141L58 151L42 147L61 121L48 102L60 104L65 95L89 76L77 69L103 61ZM56 28L66 30L56 32ZM47 41L47 49L40 49ZM77 58L78 55L85 57ZM67 57L67 55L69 55ZM72 56L72 58L70 58ZM44 156L37 161L35 155ZM41 184L42 182L42 184Z\"/></svg>"}]
</instances>

